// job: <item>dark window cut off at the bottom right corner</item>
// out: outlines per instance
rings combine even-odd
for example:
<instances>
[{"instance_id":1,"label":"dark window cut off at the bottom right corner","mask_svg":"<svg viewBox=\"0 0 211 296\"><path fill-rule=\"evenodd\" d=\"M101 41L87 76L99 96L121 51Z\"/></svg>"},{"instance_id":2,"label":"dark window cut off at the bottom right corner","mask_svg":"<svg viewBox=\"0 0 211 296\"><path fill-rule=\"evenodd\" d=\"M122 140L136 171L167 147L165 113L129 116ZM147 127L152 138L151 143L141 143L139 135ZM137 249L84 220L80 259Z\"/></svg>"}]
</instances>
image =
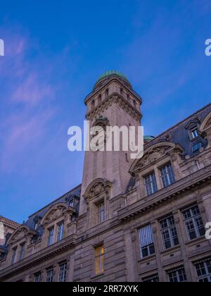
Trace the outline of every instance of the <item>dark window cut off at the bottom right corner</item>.
<instances>
[{"instance_id":1,"label":"dark window cut off at the bottom right corner","mask_svg":"<svg viewBox=\"0 0 211 296\"><path fill-rule=\"evenodd\" d=\"M211 283L211 258L195 264L198 282Z\"/></svg>"}]
</instances>

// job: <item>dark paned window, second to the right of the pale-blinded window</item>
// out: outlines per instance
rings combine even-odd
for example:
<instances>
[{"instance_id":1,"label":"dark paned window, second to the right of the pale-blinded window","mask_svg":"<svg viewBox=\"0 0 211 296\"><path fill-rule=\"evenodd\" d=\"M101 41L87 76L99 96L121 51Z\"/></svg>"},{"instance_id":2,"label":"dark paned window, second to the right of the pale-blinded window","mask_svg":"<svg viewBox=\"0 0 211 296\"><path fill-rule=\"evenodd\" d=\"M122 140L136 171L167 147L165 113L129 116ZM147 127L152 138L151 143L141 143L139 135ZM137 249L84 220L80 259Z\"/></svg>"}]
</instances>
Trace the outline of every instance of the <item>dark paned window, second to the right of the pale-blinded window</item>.
<instances>
[{"instance_id":1,"label":"dark paned window, second to the right of the pale-blinded window","mask_svg":"<svg viewBox=\"0 0 211 296\"><path fill-rule=\"evenodd\" d=\"M191 206L190 208L184 209L182 214L189 240L194 240L195 238L200 238L205 235L203 219L197 204Z\"/></svg>"}]
</instances>

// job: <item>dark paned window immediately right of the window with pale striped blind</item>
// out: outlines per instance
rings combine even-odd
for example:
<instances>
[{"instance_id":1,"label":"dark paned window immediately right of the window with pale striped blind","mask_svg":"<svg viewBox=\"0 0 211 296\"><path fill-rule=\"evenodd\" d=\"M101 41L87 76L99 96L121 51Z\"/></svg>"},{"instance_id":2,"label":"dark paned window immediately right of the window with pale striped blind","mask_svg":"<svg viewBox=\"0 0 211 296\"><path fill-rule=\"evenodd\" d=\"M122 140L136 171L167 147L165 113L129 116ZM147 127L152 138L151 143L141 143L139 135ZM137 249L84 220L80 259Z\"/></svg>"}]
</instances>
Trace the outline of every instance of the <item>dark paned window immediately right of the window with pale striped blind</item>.
<instances>
[{"instance_id":1,"label":"dark paned window immediately right of the window with pale striped blind","mask_svg":"<svg viewBox=\"0 0 211 296\"><path fill-rule=\"evenodd\" d=\"M169 216L161 220L160 228L165 249L170 249L171 247L179 245L177 229L174 223L173 216Z\"/></svg>"}]
</instances>

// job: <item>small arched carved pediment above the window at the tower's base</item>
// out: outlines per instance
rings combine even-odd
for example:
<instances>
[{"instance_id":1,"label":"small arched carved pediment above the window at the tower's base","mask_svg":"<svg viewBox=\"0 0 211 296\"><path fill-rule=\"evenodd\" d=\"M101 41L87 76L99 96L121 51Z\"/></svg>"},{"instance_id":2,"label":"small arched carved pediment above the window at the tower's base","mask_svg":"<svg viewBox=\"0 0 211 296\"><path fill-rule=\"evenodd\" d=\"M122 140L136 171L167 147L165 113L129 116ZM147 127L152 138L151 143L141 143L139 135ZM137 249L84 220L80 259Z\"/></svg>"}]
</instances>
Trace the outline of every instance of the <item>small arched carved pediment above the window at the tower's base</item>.
<instances>
[{"instance_id":1,"label":"small arched carved pediment above the window at the tower's base","mask_svg":"<svg viewBox=\"0 0 211 296\"><path fill-rule=\"evenodd\" d=\"M112 183L110 183L110 181L98 178L87 187L87 190L84 194L84 199L93 199L105 192L108 193L111 186Z\"/></svg>"}]
</instances>

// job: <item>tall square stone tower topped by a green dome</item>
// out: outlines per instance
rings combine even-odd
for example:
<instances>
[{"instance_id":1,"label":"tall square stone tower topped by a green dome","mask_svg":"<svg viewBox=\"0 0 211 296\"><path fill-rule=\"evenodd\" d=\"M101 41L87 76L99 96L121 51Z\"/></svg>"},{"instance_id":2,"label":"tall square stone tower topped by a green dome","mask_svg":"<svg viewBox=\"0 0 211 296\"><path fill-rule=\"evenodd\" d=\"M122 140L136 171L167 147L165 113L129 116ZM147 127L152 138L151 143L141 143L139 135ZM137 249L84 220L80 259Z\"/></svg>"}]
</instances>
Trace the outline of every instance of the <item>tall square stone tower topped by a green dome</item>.
<instances>
[{"instance_id":1,"label":"tall square stone tower topped by a green dome","mask_svg":"<svg viewBox=\"0 0 211 296\"><path fill-rule=\"evenodd\" d=\"M85 99L86 118L90 127L137 127L141 121L141 102L141 97L134 92L122 73L109 71L101 75L93 91ZM87 211L90 190L92 195L98 195L98 190L102 190L100 183L103 183L102 186L107 191L109 187L111 199L125 192L131 178L129 168L132 161L124 151L85 153L80 214Z\"/></svg>"}]
</instances>

